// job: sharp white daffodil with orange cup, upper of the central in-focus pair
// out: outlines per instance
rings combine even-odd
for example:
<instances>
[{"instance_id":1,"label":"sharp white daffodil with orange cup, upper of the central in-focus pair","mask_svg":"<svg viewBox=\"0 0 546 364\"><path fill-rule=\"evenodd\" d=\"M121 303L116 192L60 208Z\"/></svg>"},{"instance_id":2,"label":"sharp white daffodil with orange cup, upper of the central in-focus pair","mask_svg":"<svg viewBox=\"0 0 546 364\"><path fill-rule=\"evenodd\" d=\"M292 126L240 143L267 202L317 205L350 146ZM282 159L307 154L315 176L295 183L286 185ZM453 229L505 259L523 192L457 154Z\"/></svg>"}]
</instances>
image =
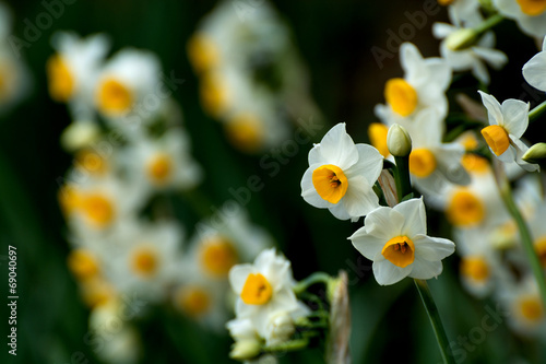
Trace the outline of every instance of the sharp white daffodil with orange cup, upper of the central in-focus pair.
<instances>
[{"instance_id":1,"label":"sharp white daffodil with orange cup, upper of the central in-focus pair","mask_svg":"<svg viewBox=\"0 0 546 364\"><path fill-rule=\"evenodd\" d=\"M337 219L356 221L379 206L372 186L382 165L383 157L373 146L355 144L345 124L339 124L309 152L301 196Z\"/></svg>"}]
</instances>

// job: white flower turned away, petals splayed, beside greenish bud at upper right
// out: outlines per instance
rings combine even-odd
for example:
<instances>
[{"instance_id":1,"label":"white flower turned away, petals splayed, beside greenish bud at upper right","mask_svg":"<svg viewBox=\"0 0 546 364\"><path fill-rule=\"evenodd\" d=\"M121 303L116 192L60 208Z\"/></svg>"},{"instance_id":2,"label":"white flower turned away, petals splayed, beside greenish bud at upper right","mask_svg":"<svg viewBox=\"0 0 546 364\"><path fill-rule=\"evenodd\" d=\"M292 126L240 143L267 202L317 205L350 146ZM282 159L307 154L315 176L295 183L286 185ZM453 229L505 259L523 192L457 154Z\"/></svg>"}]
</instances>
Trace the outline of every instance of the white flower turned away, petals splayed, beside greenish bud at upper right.
<instances>
[{"instance_id":1,"label":"white flower turned away, petals splayed, beside greenish bud at upper right","mask_svg":"<svg viewBox=\"0 0 546 364\"><path fill-rule=\"evenodd\" d=\"M474 26L483 21L482 15L476 14L474 16L476 20L467 23L466 26ZM435 23L432 25L434 35L439 39L443 39L440 44L442 58L446 59L453 71L472 70L472 74L477 80L488 84L489 73L485 63L487 62L494 69L498 70L508 62L508 57L502 51L492 49L495 47L495 34L492 32L484 34L477 44L472 47L462 50L451 50L447 45L447 39L450 34L453 34L458 30L461 30L461 27L447 23Z\"/></svg>"}]
</instances>

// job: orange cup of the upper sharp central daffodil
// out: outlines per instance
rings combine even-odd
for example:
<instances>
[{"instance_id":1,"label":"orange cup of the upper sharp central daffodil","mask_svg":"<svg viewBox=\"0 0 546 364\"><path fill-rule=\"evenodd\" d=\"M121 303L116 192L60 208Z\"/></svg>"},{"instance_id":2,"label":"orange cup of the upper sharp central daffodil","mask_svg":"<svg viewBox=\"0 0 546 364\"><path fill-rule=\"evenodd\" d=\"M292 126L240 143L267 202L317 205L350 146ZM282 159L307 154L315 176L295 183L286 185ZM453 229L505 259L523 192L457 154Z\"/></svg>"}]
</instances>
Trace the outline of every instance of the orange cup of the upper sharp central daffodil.
<instances>
[{"instance_id":1,"label":"orange cup of the upper sharp central daffodil","mask_svg":"<svg viewBox=\"0 0 546 364\"><path fill-rule=\"evenodd\" d=\"M343 171L327 164L312 172L312 185L319 196L328 202L337 203L347 192L347 177Z\"/></svg>"}]
</instances>

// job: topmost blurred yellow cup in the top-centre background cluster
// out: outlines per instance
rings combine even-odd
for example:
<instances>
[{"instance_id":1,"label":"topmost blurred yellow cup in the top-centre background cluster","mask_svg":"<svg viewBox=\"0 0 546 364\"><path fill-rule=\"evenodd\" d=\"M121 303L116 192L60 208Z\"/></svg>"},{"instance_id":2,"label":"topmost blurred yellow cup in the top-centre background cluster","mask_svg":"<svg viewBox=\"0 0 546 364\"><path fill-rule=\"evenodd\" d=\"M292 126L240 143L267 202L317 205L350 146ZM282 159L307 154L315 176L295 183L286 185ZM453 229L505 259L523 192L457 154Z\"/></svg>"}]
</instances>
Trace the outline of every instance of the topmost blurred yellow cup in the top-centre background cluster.
<instances>
[{"instance_id":1,"label":"topmost blurred yellow cup in the top-centre background cluster","mask_svg":"<svg viewBox=\"0 0 546 364\"><path fill-rule=\"evenodd\" d=\"M201 102L203 108L212 116L219 116L229 105L229 90L218 74L207 72L201 82Z\"/></svg>"}]
</instances>

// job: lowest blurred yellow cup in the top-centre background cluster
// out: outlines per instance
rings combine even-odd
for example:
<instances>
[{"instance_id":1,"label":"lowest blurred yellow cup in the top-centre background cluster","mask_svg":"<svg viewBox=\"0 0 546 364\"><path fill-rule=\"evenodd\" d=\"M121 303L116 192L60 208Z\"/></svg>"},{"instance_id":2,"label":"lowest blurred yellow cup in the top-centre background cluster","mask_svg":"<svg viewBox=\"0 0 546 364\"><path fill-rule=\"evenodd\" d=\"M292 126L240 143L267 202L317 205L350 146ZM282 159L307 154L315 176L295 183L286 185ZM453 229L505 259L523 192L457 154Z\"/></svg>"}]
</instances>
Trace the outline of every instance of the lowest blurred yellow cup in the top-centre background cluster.
<instances>
[{"instance_id":1,"label":"lowest blurred yellow cup in the top-centre background cluster","mask_svg":"<svg viewBox=\"0 0 546 364\"><path fill-rule=\"evenodd\" d=\"M252 114L240 114L226 125L227 137L234 145L245 152L256 152L262 146L263 125Z\"/></svg>"}]
</instances>

